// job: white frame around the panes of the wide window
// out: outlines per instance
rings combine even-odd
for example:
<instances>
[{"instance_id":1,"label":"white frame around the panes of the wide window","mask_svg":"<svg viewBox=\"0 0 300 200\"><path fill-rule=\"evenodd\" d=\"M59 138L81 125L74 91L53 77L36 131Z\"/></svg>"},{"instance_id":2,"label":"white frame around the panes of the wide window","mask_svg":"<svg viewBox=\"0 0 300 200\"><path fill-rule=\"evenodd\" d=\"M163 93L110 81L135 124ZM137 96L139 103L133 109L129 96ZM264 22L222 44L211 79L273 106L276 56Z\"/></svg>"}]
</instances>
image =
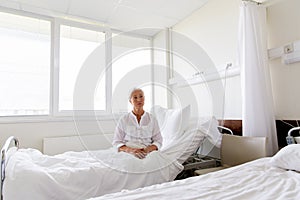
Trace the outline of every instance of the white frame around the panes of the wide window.
<instances>
[{"instance_id":1,"label":"white frame around the panes of the wide window","mask_svg":"<svg viewBox=\"0 0 300 200\"><path fill-rule=\"evenodd\" d=\"M49 83L49 114L48 115L15 115L15 116L1 116L0 117L0 124L1 123L26 123L26 122L47 122L47 121L72 121L74 120L73 113L74 111L59 111L59 46L60 46L60 25L67 25L67 26L74 26L77 28L83 28L92 31L99 31L105 33L105 64L108 66L108 70L106 71L106 109L104 111L92 111L95 114L101 117L101 120L111 120L121 115L113 114L112 113L112 34L119 33L120 31L116 29L111 29L100 22L92 22L88 20L81 20L80 18L76 18L74 20L71 19L61 19L58 17L51 17L41 14L36 14L28 11L22 10L15 10L10 8L3 8L0 7L0 12L20 15L24 17L31 17L42 19L50 22L51 31L50 31L50 38L51 38L51 45L50 45L50 83ZM137 37L137 38L146 38L150 40L150 44L153 45L153 38L150 36L139 35L139 34L130 34L128 35ZM153 65L153 50L151 51L151 65ZM153 68L151 69L151 79L153 81ZM154 98L154 85L152 84L152 99ZM153 103L153 101L152 101ZM76 114L80 120L91 120L94 118L89 117L88 113L91 111L76 111Z\"/></svg>"}]
</instances>

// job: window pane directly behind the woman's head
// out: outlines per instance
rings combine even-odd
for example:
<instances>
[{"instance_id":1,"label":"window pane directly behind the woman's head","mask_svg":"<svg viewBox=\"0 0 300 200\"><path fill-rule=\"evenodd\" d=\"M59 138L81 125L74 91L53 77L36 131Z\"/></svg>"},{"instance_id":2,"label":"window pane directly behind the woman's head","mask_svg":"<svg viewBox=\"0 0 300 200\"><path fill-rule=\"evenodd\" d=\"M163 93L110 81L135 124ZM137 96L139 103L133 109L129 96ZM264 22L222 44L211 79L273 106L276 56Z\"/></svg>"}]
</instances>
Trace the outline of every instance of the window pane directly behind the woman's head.
<instances>
[{"instance_id":1,"label":"window pane directly behind the woman's head","mask_svg":"<svg viewBox=\"0 0 300 200\"><path fill-rule=\"evenodd\" d=\"M152 105L150 41L144 38L113 35L112 43L113 111L132 109L128 93L134 87L144 90L144 108L149 110Z\"/></svg>"}]
</instances>

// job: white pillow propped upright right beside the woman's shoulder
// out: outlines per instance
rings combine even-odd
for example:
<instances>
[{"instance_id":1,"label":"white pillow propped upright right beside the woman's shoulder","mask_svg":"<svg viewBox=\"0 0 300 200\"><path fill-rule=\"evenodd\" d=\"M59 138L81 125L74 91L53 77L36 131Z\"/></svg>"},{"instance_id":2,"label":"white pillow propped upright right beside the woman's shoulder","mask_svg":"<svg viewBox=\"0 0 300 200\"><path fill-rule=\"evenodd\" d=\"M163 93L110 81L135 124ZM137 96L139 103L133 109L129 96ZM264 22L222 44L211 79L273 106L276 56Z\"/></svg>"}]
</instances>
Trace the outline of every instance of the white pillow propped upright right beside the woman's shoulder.
<instances>
[{"instance_id":1,"label":"white pillow propped upright right beside the woman's shoulder","mask_svg":"<svg viewBox=\"0 0 300 200\"><path fill-rule=\"evenodd\" d=\"M154 106L152 113L158 121L163 137L162 146L167 146L187 129L191 109L190 105L183 109L166 109L161 106Z\"/></svg>"}]
</instances>

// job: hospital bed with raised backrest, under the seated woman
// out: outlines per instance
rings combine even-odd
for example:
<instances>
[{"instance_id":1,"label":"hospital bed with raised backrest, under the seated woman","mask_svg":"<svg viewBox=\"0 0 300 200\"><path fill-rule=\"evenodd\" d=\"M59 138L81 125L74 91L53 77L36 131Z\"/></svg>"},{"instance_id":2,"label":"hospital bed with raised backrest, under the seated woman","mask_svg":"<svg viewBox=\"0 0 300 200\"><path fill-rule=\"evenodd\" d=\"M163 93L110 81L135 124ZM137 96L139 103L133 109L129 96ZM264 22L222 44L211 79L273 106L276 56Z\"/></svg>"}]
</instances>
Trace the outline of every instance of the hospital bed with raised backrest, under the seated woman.
<instances>
[{"instance_id":1,"label":"hospital bed with raised backrest, under the seated woman","mask_svg":"<svg viewBox=\"0 0 300 200\"><path fill-rule=\"evenodd\" d=\"M1 149L1 197L5 200L87 199L170 182L213 129L217 134L215 118L189 126L145 159L114 148L49 156L36 149L19 148L17 138L10 137Z\"/></svg>"}]
</instances>

